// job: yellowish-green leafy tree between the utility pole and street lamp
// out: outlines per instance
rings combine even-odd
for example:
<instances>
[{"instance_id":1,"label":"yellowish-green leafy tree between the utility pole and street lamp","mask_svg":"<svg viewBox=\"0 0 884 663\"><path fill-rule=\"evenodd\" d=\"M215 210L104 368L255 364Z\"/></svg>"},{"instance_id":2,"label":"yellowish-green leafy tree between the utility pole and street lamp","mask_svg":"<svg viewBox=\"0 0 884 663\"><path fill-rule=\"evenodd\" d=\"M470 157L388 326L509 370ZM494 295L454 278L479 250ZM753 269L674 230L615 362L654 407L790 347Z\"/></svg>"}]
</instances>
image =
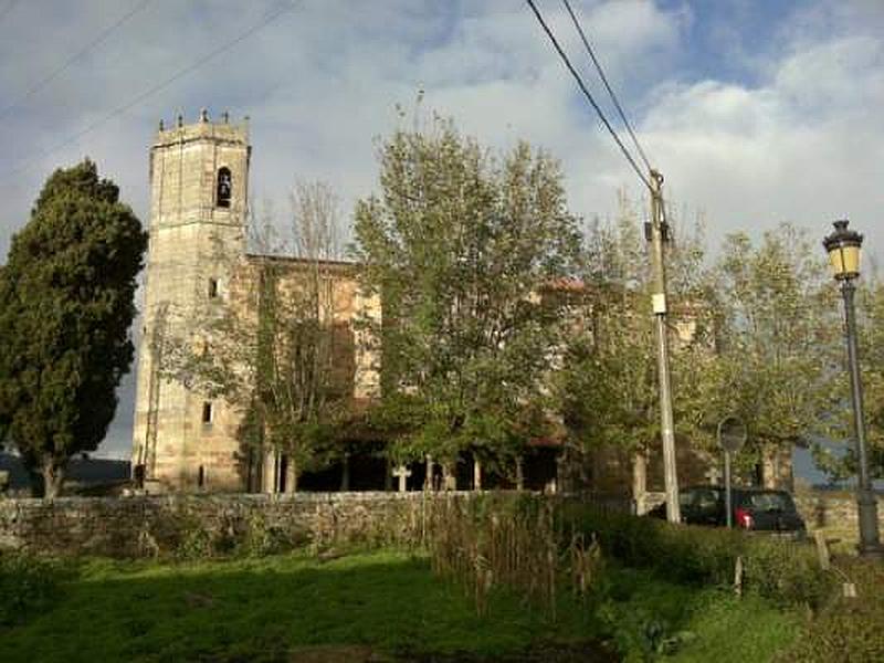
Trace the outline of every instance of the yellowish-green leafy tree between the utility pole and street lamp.
<instances>
[{"instance_id":1,"label":"yellowish-green leafy tree between the utility pole and street lamp","mask_svg":"<svg viewBox=\"0 0 884 663\"><path fill-rule=\"evenodd\" d=\"M704 385L712 422L738 414L749 430L747 462L767 485L787 480L780 455L821 430L832 401L839 326L821 251L782 224L755 245L729 235L717 264L718 355Z\"/></svg>"}]
</instances>

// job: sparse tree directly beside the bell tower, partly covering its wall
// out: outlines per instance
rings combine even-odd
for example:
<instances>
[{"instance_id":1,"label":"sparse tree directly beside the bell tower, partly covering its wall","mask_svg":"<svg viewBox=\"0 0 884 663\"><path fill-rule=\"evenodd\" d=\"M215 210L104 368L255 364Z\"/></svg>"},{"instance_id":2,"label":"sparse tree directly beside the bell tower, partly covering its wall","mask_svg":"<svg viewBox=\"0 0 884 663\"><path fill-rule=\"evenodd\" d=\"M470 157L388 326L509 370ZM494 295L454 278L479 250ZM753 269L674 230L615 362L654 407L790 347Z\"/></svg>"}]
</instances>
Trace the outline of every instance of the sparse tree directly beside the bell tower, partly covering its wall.
<instances>
[{"instance_id":1,"label":"sparse tree directly beside the bell tower, partly covering its wall","mask_svg":"<svg viewBox=\"0 0 884 663\"><path fill-rule=\"evenodd\" d=\"M251 229L263 255L241 264L219 248L234 274L230 295L206 302L183 336L167 339L164 372L242 412L243 445L284 453L296 482L337 455L354 369L341 360L352 355L348 330L335 319L340 265L328 262L340 257L337 199L327 185L298 182L291 209L290 239L271 219Z\"/></svg>"}]
</instances>

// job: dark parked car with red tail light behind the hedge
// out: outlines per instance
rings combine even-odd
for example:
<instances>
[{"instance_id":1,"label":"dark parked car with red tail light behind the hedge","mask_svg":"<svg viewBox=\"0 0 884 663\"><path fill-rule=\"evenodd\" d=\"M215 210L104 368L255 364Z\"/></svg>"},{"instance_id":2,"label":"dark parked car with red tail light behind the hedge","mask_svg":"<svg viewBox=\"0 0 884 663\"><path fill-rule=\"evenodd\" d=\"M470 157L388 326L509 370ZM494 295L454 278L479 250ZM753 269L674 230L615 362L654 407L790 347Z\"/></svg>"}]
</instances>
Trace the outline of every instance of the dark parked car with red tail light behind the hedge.
<instances>
[{"instance_id":1,"label":"dark parked car with red tail light behind the hedge","mask_svg":"<svg viewBox=\"0 0 884 663\"><path fill-rule=\"evenodd\" d=\"M691 486L680 493L682 522L691 525L725 527L724 486ZM804 520L798 515L792 496L786 491L767 488L733 488L732 523L751 532L772 532L803 537ZM648 514L665 518L666 505L661 504Z\"/></svg>"}]
</instances>

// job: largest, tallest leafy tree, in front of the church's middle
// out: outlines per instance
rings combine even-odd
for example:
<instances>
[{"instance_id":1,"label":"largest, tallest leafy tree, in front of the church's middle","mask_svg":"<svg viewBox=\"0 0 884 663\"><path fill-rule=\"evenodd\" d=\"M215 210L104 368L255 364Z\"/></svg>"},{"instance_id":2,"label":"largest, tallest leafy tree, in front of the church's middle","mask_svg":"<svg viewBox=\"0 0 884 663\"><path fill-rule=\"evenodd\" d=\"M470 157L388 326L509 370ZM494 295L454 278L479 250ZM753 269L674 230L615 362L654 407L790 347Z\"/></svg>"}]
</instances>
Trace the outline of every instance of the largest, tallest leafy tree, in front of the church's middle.
<instances>
[{"instance_id":1,"label":"largest, tallest leafy tree, in front of the church's middle","mask_svg":"<svg viewBox=\"0 0 884 663\"><path fill-rule=\"evenodd\" d=\"M397 131L380 196L358 202L355 253L381 297L382 403L397 452L503 466L549 432L547 373L562 340L580 240L556 161L519 144L495 156L451 122ZM555 290L555 287L552 288Z\"/></svg>"}]
</instances>

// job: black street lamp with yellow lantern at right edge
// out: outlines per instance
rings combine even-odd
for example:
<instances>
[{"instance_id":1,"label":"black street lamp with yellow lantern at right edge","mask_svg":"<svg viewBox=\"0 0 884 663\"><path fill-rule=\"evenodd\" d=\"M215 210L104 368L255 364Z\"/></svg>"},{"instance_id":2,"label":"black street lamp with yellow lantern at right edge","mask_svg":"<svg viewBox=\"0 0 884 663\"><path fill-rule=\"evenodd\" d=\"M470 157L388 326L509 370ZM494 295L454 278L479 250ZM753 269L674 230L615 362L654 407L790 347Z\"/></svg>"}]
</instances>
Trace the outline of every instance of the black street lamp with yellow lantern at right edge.
<instances>
[{"instance_id":1,"label":"black street lamp with yellow lantern at right edge","mask_svg":"<svg viewBox=\"0 0 884 663\"><path fill-rule=\"evenodd\" d=\"M856 457L860 463L860 476L856 485L856 504L860 519L860 555L865 557L884 557L877 528L877 501L869 480L869 459L865 454L865 421L863 419L863 386L860 381L860 361L856 352L856 313L853 306L853 294L856 286L853 281L860 275L860 249L863 235L848 230L848 220L835 221L835 230L822 242L835 281L841 283L844 297L845 336L848 340L848 364L850 369L850 393L853 402L853 430L856 440Z\"/></svg>"}]
</instances>

